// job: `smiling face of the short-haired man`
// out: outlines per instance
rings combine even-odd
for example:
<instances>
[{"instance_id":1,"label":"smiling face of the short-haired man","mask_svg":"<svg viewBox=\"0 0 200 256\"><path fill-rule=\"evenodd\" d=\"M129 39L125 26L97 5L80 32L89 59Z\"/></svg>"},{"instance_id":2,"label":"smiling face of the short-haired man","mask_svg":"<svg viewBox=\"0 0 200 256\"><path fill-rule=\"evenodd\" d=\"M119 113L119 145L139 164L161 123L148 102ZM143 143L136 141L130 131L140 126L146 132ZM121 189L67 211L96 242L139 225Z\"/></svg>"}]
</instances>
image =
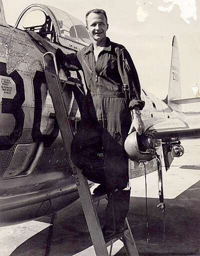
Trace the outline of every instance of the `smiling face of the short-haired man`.
<instances>
[{"instance_id":1,"label":"smiling face of the short-haired man","mask_svg":"<svg viewBox=\"0 0 200 256\"><path fill-rule=\"evenodd\" d=\"M87 27L91 39L100 42L106 37L108 24L103 14L90 13L87 17Z\"/></svg>"}]
</instances>

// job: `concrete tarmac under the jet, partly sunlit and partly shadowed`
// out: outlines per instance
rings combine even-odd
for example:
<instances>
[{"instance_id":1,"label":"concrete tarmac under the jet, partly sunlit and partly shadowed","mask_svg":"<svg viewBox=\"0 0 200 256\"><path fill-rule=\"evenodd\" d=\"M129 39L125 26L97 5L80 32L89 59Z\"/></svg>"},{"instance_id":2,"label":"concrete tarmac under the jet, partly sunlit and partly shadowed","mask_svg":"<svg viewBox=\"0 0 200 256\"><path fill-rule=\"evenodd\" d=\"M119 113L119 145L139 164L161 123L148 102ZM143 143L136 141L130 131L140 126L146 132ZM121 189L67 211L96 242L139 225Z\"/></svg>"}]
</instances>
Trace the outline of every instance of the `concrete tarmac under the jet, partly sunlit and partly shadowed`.
<instances>
[{"instance_id":1,"label":"concrete tarmac under the jet, partly sunlit and partly shadowed","mask_svg":"<svg viewBox=\"0 0 200 256\"><path fill-rule=\"evenodd\" d=\"M184 155L175 158L166 173L163 168L164 213L156 207L159 203L157 174L154 172L146 177L147 216L144 177L131 180L127 217L139 255L200 255L200 140L186 140L182 145ZM105 206L103 199L98 210L101 223ZM147 232L149 241L146 240ZM117 241L113 247L112 255L126 255L122 242ZM54 216L3 227L0 248L4 248L0 249L2 256L95 255L79 199Z\"/></svg>"}]
</instances>

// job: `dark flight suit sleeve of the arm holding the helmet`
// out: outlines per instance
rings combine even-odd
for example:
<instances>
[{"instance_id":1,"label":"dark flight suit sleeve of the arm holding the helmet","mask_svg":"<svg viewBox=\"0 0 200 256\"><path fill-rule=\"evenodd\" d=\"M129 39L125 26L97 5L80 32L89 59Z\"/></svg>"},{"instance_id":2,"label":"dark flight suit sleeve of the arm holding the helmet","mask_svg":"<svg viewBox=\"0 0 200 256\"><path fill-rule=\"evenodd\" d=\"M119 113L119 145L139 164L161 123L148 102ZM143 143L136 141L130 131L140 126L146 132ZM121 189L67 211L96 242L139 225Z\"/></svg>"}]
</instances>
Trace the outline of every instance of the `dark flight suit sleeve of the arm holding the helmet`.
<instances>
[{"instance_id":1,"label":"dark flight suit sleeve of the arm holding the helmet","mask_svg":"<svg viewBox=\"0 0 200 256\"><path fill-rule=\"evenodd\" d=\"M122 49L117 59L118 71L122 80L123 85L128 86L129 92L129 108L133 109L135 105L140 110L144 107L144 101L140 98L140 83L139 78L132 62L132 59L126 49Z\"/></svg>"}]
</instances>

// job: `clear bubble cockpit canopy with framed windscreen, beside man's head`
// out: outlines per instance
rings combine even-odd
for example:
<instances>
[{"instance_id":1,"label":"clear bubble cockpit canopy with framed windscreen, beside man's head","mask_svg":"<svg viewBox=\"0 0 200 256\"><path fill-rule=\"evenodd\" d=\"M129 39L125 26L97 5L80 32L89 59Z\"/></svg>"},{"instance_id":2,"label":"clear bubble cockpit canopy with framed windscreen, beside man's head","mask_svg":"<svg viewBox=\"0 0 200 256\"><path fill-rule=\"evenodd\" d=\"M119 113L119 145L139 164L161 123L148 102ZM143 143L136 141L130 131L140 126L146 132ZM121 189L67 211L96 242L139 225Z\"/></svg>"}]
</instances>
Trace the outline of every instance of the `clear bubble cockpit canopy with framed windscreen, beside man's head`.
<instances>
[{"instance_id":1,"label":"clear bubble cockpit canopy with framed windscreen, beside man's head","mask_svg":"<svg viewBox=\"0 0 200 256\"><path fill-rule=\"evenodd\" d=\"M90 44L89 34L82 22L49 6L40 4L28 6L19 16L15 27L34 31L50 42L65 47L69 47L69 43L72 42L71 47L74 50L80 50Z\"/></svg>"}]
</instances>

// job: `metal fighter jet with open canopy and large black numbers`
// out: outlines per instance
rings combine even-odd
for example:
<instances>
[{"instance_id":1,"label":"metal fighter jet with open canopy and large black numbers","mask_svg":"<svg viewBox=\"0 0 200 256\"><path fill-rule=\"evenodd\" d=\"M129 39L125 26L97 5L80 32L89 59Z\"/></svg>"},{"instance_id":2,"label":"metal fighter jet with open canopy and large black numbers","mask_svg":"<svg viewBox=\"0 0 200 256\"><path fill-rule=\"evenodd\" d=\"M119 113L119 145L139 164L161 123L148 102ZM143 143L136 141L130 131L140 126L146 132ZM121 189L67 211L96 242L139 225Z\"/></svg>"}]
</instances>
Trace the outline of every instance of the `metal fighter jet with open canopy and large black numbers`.
<instances>
[{"instance_id":1,"label":"metal fighter jet with open canopy and large black numbers","mask_svg":"<svg viewBox=\"0 0 200 256\"><path fill-rule=\"evenodd\" d=\"M49 215L78 198L44 76L45 49L27 31L37 33L66 54L90 44L83 23L63 11L40 4L28 6L11 27L5 21L0 0L0 226ZM53 67L51 62L48 67ZM61 69L59 80L71 131L75 134L81 119L75 99L85 93L84 77L81 72ZM168 169L173 156L182 155L180 139L200 137L199 116L189 117L181 112L180 104L194 99L179 99L175 37L167 98L161 101L144 90L141 98L145 101L142 119L146 131L154 134L160 155L163 148ZM147 172L157 170L154 159L146 163L146 169ZM129 160L129 174L130 178L143 175L142 165Z\"/></svg>"}]
</instances>

